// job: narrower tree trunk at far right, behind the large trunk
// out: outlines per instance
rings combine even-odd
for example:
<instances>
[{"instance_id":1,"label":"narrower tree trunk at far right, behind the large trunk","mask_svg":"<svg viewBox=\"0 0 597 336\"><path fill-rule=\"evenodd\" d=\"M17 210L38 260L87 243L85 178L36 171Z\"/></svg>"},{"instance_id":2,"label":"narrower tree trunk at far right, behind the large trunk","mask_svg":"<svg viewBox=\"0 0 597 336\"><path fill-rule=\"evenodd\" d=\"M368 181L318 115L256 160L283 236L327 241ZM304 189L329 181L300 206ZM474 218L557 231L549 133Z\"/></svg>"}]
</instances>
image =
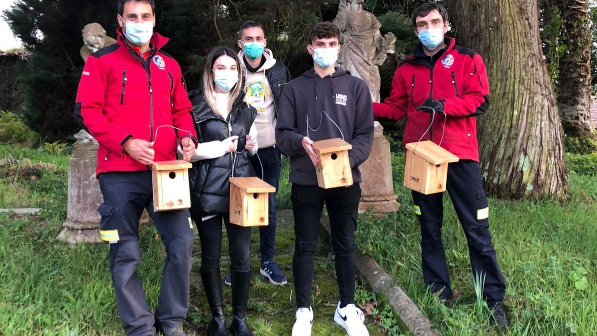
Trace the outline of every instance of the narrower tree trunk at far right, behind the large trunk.
<instances>
[{"instance_id":1,"label":"narrower tree trunk at far right, behind the large trunk","mask_svg":"<svg viewBox=\"0 0 597 336\"><path fill-rule=\"evenodd\" d=\"M591 35L589 0L557 0L567 50L559 61L558 108L567 136L595 140L591 123ZM595 149L595 148L593 148Z\"/></svg>"}]
</instances>

